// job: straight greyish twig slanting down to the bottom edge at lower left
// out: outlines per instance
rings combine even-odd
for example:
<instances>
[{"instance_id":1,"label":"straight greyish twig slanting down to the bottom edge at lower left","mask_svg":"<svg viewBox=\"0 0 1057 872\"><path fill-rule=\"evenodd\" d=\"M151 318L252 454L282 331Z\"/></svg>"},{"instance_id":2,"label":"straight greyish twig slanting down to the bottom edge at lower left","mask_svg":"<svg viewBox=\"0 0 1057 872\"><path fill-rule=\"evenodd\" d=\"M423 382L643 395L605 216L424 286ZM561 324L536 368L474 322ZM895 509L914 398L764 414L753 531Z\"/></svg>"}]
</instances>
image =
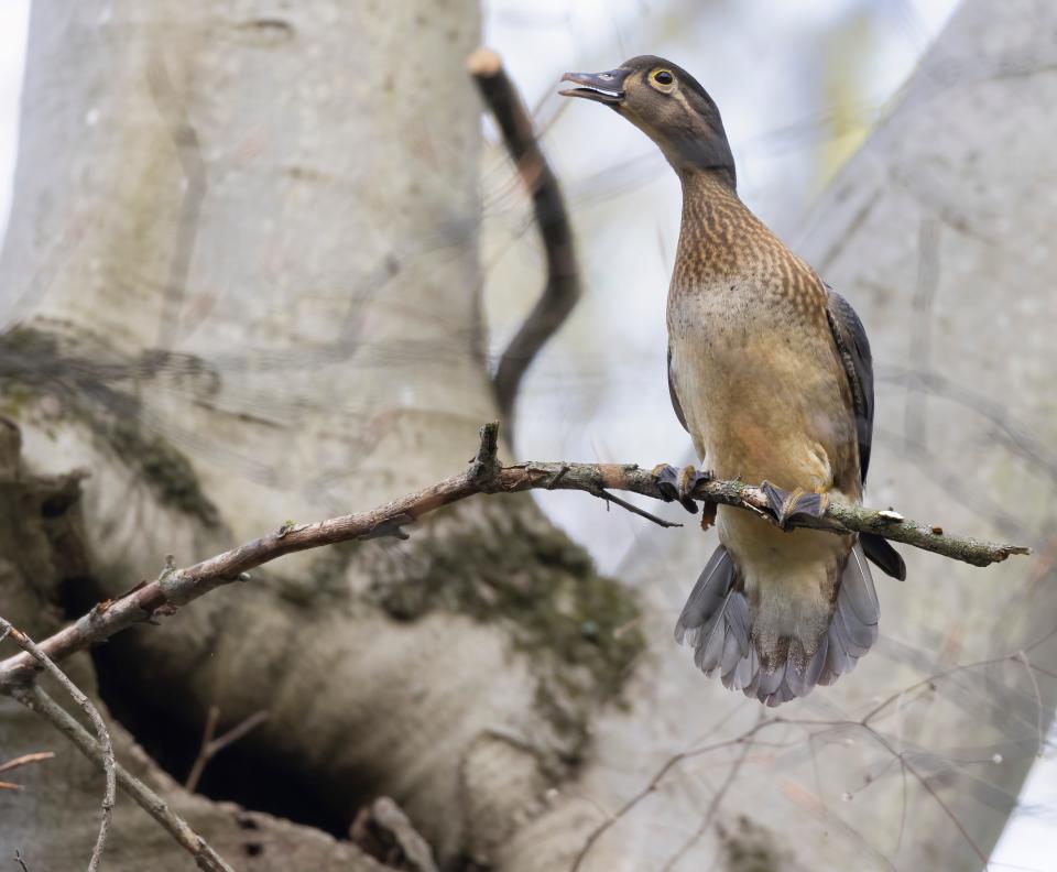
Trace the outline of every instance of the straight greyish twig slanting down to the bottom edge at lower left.
<instances>
[{"instance_id":1,"label":"straight greyish twig slanting down to the bottom edge at lower left","mask_svg":"<svg viewBox=\"0 0 1057 872\"><path fill-rule=\"evenodd\" d=\"M31 711L51 722L63 735L69 739L77 749L100 769L107 767L106 752L84 727L77 723L69 713L54 699L44 693L37 685L15 687L11 696ZM133 777L120 765L113 766L118 784L135 803L143 808L154 820L162 825L194 859L198 869L204 872L235 872L228 863L206 842L201 836L193 830L179 815L173 811L168 804L139 778Z\"/></svg>"}]
</instances>

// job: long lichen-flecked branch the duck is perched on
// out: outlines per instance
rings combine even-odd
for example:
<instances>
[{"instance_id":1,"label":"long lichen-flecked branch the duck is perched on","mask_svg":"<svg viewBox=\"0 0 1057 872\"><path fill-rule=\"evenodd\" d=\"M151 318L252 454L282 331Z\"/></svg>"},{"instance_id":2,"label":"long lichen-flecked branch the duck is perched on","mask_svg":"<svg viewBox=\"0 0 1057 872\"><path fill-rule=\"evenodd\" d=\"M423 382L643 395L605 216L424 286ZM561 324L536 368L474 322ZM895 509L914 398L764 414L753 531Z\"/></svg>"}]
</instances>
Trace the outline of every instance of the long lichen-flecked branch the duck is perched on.
<instances>
[{"instance_id":1,"label":"long lichen-flecked branch the duck is perched on","mask_svg":"<svg viewBox=\"0 0 1057 872\"><path fill-rule=\"evenodd\" d=\"M54 661L61 661L89 645L102 642L132 624L172 614L181 606L232 581L249 580L247 573L284 554L318 548L338 542L380 536L406 538L404 527L444 505L478 493L514 493L534 489L579 490L610 500L610 490L623 490L664 499L653 473L634 464L526 462L501 466L495 457L499 425L481 428L481 444L470 467L459 475L432 484L417 493L401 497L367 512L340 515L312 524L284 523L279 530L237 548L183 569L166 566L155 581L142 584L115 600L105 600L74 623L40 643ZM694 498L733 505L774 520L763 490L741 481L706 481ZM649 513L641 512L647 517ZM664 522L669 523L669 522ZM1029 554L1020 545L948 536L939 527L907 521L891 510L830 503L821 519L799 515L791 527L813 527L833 533L875 533L945 557L988 566L1013 554ZM19 654L0 661L0 691L32 680L33 658Z\"/></svg>"}]
</instances>

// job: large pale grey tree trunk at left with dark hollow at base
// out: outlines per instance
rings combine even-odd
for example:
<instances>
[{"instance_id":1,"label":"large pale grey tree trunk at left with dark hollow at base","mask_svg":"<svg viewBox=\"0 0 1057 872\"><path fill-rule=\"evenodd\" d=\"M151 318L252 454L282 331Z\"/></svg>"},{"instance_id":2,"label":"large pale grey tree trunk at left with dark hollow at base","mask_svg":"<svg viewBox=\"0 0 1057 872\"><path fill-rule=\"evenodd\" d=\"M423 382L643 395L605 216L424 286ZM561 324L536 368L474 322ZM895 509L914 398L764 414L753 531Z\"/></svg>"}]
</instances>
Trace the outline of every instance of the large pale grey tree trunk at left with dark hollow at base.
<instances>
[{"instance_id":1,"label":"large pale grey tree trunk at left with dark hollow at base","mask_svg":"<svg viewBox=\"0 0 1057 872\"><path fill-rule=\"evenodd\" d=\"M478 28L473 0L34 4L0 263L19 321L6 408L33 469L91 471L92 573L44 586L46 602L84 609L166 554L370 508L472 454L494 416L462 66ZM388 794L443 860L487 864L620 698L635 614L531 500L504 498L406 545L283 558L95 663L115 713L181 777L210 705L221 729L270 712L210 764L211 795L340 835ZM58 618L8 617L35 635ZM87 662L77 677L90 689ZM30 730L13 715L0 745ZM0 794L8 855L83 865L101 780L78 765ZM206 830L233 814L185 799ZM64 803L77 826L56 839ZM178 866L175 844L151 843L156 868ZM252 868L314 868L297 857Z\"/></svg>"}]
</instances>

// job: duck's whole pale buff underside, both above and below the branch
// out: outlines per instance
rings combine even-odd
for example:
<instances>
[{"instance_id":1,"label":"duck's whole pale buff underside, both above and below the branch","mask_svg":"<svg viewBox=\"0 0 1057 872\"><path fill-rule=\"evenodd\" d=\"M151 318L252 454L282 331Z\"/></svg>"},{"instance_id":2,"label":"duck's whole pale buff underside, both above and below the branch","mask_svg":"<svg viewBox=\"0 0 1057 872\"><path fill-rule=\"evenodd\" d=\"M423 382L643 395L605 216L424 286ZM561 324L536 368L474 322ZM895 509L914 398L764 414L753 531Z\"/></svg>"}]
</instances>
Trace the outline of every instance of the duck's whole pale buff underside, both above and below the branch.
<instances>
[{"instance_id":1,"label":"duck's whole pale buff underside, both above and below the branch","mask_svg":"<svg viewBox=\"0 0 1057 872\"><path fill-rule=\"evenodd\" d=\"M847 377L828 325L808 329L810 321L786 301L755 287L740 290L727 284L715 293L676 297L668 307L672 378L705 468L718 478L767 480L786 490L857 500L858 490L835 487L841 478L835 467L853 462L849 450L856 449L849 446L853 419L840 381ZM785 532L726 505L717 514L761 651L793 635L811 653L828 624L851 541Z\"/></svg>"}]
</instances>

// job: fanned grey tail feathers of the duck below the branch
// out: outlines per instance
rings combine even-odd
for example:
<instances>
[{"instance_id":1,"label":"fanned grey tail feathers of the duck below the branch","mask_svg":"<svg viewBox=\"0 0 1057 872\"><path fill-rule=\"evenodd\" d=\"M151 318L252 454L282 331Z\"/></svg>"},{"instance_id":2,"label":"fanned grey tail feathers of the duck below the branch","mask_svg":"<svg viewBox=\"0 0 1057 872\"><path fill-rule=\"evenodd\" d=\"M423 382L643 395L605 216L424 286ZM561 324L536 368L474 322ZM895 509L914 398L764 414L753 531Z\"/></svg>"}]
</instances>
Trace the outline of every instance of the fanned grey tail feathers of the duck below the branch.
<instances>
[{"instance_id":1,"label":"fanned grey tail feathers of the duck below the branch","mask_svg":"<svg viewBox=\"0 0 1057 872\"><path fill-rule=\"evenodd\" d=\"M878 639L878 593L858 543L841 575L829 628L815 653L804 657L803 644L793 640L786 660L773 669L761 668L749 600L737 581L734 562L720 545L683 608L675 639L694 648L694 663L707 676L718 672L724 687L769 706L807 696L817 684L832 684L851 672Z\"/></svg>"}]
</instances>

